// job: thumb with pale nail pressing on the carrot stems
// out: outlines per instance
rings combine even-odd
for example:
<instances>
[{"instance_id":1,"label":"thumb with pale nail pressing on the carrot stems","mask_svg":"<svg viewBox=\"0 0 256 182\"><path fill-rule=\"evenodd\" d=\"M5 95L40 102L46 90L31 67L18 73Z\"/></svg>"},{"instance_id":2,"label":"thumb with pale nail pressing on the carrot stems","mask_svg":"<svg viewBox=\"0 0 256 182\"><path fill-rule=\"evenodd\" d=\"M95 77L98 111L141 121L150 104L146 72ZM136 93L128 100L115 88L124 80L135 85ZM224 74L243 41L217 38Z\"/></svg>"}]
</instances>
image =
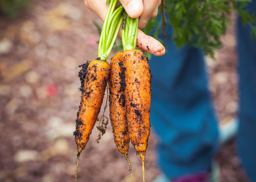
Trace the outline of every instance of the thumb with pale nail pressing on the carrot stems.
<instances>
[{"instance_id":1,"label":"thumb with pale nail pressing on the carrot stems","mask_svg":"<svg viewBox=\"0 0 256 182\"><path fill-rule=\"evenodd\" d=\"M119 0L125 11L131 18L138 18L142 15L144 7L142 0Z\"/></svg>"}]
</instances>

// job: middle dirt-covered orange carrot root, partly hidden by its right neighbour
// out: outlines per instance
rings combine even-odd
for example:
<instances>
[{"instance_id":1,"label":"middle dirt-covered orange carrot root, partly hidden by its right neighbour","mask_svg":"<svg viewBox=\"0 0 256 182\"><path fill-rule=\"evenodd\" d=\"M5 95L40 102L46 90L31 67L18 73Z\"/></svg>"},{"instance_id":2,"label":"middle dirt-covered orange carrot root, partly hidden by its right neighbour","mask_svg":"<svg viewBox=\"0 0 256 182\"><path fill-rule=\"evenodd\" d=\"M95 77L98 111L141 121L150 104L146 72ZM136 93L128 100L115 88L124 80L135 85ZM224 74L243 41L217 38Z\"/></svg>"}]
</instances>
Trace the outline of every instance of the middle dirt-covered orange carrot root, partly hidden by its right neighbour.
<instances>
[{"instance_id":1,"label":"middle dirt-covered orange carrot root, partly hidden by its right neighbour","mask_svg":"<svg viewBox=\"0 0 256 182\"><path fill-rule=\"evenodd\" d=\"M109 76L109 110L110 121L113 129L114 142L119 150L129 163L130 176L132 181L132 168L128 158L128 149L130 137L128 133L127 115L125 110L124 99L124 68L123 67L123 53L117 53L110 62L110 76Z\"/></svg>"}]
</instances>

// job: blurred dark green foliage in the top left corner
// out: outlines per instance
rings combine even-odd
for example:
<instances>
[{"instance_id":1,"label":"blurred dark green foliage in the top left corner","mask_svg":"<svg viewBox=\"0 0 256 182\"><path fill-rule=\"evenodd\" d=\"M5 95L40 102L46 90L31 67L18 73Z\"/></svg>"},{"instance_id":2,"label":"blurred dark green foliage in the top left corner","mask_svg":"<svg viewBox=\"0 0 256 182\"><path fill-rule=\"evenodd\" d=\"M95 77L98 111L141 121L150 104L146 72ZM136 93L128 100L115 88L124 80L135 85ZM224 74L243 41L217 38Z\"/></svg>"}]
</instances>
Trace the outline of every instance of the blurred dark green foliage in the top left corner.
<instances>
[{"instance_id":1,"label":"blurred dark green foliage in the top left corner","mask_svg":"<svg viewBox=\"0 0 256 182\"><path fill-rule=\"evenodd\" d=\"M0 13L7 16L15 17L28 4L29 0L0 0Z\"/></svg>"}]
</instances>

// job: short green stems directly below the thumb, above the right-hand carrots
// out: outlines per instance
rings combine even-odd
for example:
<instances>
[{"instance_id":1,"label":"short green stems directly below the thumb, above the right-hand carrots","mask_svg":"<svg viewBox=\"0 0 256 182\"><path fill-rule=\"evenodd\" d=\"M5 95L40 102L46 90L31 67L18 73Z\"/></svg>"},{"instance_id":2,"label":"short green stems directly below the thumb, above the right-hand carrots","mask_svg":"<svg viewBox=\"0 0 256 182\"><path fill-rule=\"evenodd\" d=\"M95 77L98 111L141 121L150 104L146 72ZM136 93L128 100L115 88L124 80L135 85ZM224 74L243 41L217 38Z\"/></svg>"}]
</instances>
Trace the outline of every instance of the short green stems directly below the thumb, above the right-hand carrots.
<instances>
[{"instance_id":1,"label":"short green stems directly below the thumb, above the right-hand carrots","mask_svg":"<svg viewBox=\"0 0 256 182\"><path fill-rule=\"evenodd\" d=\"M124 19L122 23L123 51L135 49L139 18L131 18L126 12L123 12L122 17Z\"/></svg>"}]
</instances>

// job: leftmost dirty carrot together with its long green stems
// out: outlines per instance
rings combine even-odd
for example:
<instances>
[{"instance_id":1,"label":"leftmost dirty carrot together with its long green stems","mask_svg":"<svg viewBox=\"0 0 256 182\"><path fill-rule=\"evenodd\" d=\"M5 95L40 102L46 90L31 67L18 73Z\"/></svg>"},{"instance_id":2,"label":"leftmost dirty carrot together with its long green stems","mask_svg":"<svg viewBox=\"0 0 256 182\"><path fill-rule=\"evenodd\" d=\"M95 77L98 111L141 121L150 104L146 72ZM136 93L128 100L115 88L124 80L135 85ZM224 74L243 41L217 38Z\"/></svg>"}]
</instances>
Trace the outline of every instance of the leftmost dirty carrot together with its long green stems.
<instances>
[{"instance_id":1,"label":"leftmost dirty carrot together with its long green stems","mask_svg":"<svg viewBox=\"0 0 256 182\"><path fill-rule=\"evenodd\" d=\"M109 8L100 35L97 60L83 64L82 70L79 72L82 96L77 113L76 130L74 132L78 151L75 181L77 181L80 154L90 138L102 105L110 73L109 64L106 62L106 59L110 54L123 21L121 16L123 6L120 5L115 10L117 0L110 0L108 2Z\"/></svg>"}]
</instances>

